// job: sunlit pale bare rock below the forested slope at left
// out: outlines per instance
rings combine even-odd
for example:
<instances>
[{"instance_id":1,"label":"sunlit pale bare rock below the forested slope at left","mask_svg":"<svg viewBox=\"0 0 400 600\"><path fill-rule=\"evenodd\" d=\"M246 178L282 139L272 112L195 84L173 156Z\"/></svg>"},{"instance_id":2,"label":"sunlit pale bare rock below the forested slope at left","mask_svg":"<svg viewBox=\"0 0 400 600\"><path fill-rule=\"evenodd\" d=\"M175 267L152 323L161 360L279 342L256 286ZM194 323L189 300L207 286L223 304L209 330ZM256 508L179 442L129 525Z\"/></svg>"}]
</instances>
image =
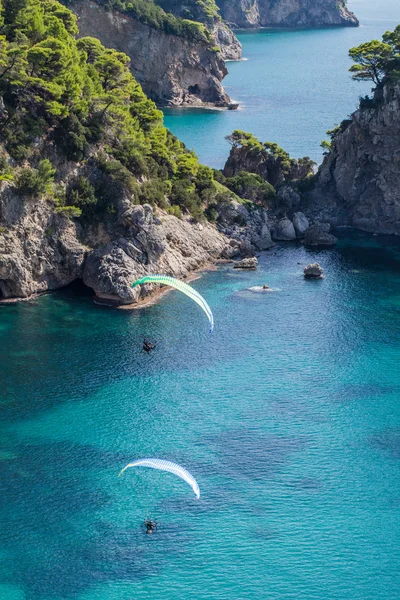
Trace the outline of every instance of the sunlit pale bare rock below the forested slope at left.
<instances>
[{"instance_id":1,"label":"sunlit pale bare rock below the forested slope at left","mask_svg":"<svg viewBox=\"0 0 400 600\"><path fill-rule=\"evenodd\" d=\"M120 203L106 223L84 227L54 212L49 200L23 199L0 190L0 299L29 297L82 279L96 295L135 302L132 281L154 272L186 277L219 257L238 254L210 225L172 215L156 217L149 205Z\"/></svg>"}]
</instances>

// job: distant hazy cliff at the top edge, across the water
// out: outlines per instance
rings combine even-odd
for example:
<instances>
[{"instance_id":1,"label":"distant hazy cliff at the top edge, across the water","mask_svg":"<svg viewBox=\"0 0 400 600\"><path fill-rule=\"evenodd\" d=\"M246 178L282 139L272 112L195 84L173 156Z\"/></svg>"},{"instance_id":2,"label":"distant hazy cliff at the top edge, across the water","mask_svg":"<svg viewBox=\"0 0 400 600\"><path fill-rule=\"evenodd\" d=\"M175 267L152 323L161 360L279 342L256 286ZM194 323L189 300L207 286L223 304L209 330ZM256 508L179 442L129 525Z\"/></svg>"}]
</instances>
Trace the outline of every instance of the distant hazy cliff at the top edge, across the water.
<instances>
[{"instance_id":1,"label":"distant hazy cliff at the top edge, across the water","mask_svg":"<svg viewBox=\"0 0 400 600\"><path fill-rule=\"evenodd\" d=\"M217 0L235 27L357 26L343 0Z\"/></svg>"}]
</instances>

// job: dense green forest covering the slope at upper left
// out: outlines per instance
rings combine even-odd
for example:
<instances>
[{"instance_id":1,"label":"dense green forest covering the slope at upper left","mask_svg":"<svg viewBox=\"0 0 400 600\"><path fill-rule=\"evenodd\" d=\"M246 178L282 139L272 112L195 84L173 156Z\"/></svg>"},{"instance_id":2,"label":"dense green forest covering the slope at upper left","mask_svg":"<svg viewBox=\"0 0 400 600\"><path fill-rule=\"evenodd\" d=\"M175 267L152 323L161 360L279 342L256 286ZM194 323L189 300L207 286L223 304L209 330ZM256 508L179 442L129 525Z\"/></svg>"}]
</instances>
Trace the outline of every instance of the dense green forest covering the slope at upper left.
<instances>
[{"instance_id":1,"label":"dense green forest covering the slope at upper left","mask_svg":"<svg viewBox=\"0 0 400 600\"><path fill-rule=\"evenodd\" d=\"M219 193L213 173L165 129L128 57L76 39L75 16L56 0L0 6L0 177L71 216L112 213L126 195L201 218ZM65 160L79 175L61 189Z\"/></svg>"}]
</instances>

